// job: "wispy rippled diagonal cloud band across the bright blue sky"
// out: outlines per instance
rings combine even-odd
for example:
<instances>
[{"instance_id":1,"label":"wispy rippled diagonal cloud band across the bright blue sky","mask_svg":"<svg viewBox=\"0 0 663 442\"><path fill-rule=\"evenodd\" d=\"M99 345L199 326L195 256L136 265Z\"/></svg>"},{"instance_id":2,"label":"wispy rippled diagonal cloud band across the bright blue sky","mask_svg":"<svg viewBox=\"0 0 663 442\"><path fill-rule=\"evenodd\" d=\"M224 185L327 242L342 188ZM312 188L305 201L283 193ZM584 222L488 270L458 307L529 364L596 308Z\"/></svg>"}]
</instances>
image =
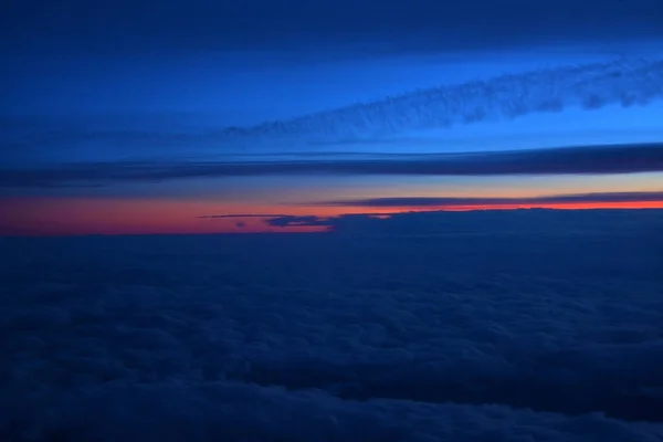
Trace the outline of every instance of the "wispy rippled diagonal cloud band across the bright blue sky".
<instances>
[{"instance_id":1,"label":"wispy rippled diagonal cloud band across the bright blue sky","mask_svg":"<svg viewBox=\"0 0 663 442\"><path fill-rule=\"evenodd\" d=\"M663 97L663 61L614 60L503 75L224 130L220 141L274 145L389 137L534 113L642 105Z\"/></svg>"}]
</instances>

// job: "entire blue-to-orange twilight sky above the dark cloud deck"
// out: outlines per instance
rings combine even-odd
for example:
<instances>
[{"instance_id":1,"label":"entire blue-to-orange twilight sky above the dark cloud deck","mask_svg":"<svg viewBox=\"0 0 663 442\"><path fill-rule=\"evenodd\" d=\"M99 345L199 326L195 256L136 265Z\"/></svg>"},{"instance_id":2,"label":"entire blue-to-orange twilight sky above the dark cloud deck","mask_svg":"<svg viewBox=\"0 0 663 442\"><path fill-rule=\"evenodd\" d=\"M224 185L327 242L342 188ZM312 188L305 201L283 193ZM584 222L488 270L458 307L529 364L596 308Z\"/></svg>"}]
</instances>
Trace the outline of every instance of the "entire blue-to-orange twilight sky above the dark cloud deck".
<instances>
[{"instance_id":1,"label":"entire blue-to-orange twilight sky above the dark cloud deck","mask_svg":"<svg viewBox=\"0 0 663 442\"><path fill-rule=\"evenodd\" d=\"M663 208L659 0L1 8L0 234Z\"/></svg>"}]
</instances>

